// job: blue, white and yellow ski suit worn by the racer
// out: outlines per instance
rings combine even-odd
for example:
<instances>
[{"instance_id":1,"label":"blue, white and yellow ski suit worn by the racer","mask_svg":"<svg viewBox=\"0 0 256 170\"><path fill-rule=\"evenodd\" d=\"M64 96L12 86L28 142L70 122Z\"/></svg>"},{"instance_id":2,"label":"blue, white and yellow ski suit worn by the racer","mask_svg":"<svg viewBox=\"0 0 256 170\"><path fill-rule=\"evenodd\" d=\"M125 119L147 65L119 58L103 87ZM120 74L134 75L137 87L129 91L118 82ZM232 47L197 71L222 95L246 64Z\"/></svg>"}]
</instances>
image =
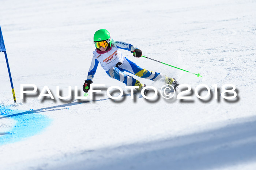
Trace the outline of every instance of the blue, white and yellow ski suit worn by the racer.
<instances>
[{"instance_id":1,"label":"blue, white and yellow ski suit worn by the racer","mask_svg":"<svg viewBox=\"0 0 256 170\"><path fill-rule=\"evenodd\" d=\"M114 41L112 39L111 48L107 52L99 52L101 53L99 54L95 49L93 52L93 59L91 61L91 67L88 72L87 80L93 80L99 63L111 78L117 79L120 82L125 83L127 86L134 86L136 79L125 74L124 71L153 81L163 77L163 75L158 72L149 71L139 67L137 64L124 57L119 49L132 52L137 48L132 44L128 44L122 41Z\"/></svg>"}]
</instances>

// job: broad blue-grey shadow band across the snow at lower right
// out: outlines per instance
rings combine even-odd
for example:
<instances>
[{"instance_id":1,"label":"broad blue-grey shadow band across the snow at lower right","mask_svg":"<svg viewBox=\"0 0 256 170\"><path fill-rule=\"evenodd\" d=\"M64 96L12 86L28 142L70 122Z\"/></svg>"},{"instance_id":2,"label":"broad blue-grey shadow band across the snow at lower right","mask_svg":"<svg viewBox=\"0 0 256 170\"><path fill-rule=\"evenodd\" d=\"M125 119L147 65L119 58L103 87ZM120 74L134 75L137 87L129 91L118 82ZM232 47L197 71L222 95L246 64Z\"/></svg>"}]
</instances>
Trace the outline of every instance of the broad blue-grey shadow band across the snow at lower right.
<instances>
[{"instance_id":1,"label":"broad blue-grey shadow band across the snow at lower right","mask_svg":"<svg viewBox=\"0 0 256 170\"><path fill-rule=\"evenodd\" d=\"M256 116L238 122L158 141L82 151L83 161L65 167L88 167L87 156L97 161L88 169L212 169L255 161Z\"/></svg>"}]
</instances>

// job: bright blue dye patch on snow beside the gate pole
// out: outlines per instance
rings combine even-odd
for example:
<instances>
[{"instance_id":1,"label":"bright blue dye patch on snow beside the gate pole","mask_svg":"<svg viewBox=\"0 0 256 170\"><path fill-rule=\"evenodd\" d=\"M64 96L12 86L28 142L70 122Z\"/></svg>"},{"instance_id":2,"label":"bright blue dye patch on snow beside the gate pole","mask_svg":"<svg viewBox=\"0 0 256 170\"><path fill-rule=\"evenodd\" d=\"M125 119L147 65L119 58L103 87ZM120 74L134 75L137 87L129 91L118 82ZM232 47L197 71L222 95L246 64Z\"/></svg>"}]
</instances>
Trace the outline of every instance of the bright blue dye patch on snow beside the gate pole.
<instances>
[{"instance_id":1,"label":"bright blue dye patch on snow beside the gate pole","mask_svg":"<svg viewBox=\"0 0 256 170\"><path fill-rule=\"evenodd\" d=\"M22 112L26 111L12 110L8 106L0 106L0 118L2 116L10 116ZM0 146L7 143L18 142L24 138L38 134L49 126L52 121L51 119L47 118L47 116L37 114L36 112L11 116L4 119L14 119L16 123L8 132L3 132L0 129Z\"/></svg>"}]
</instances>

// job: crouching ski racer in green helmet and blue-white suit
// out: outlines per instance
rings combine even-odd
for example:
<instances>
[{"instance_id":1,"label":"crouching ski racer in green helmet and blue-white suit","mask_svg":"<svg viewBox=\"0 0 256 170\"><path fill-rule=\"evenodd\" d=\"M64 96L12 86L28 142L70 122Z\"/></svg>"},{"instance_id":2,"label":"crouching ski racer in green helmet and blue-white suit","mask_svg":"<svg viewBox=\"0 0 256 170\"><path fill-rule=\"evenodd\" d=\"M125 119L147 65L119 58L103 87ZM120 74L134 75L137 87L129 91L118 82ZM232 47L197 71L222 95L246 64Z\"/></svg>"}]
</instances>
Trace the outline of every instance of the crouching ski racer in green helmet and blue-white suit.
<instances>
[{"instance_id":1,"label":"crouching ski racer in green helmet and blue-white suit","mask_svg":"<svg viewBox=\"0 0 256 170\"><path fill-rule=\"evenodd\" d=\"M150 79L153 81L163 81L165 84L170 84L176 90L179 85L174 78L168 78L162 73L153 72L139 67L131 60L127 59L119 49L128 50L133 53L133 56L139 58L142 56L142 51L122 41L114 41L110 37L110 33L106 29L99 29L95 32L94 37L95 51L93 52L93 59L89 69L87 79L83 84L83 91L90 90L90 84L93 83L93 77L97 70L98 64L106 71L110 78L117 79L125 83L127 86L139 86L136 90L140 91L143 88L142 83L132 76L124 73L124 71L139 76L141 78ZM145 85L144 85L145 86Z\"/></svg>"}]
</instances>

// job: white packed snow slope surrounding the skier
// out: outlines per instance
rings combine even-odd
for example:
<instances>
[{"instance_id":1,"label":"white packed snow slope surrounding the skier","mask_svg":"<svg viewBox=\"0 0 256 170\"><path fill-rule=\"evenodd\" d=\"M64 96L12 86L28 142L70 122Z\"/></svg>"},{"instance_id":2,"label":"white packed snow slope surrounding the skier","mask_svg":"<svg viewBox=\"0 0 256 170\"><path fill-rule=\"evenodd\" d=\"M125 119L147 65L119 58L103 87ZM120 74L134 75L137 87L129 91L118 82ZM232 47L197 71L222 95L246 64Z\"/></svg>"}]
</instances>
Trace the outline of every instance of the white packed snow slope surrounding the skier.
<instances>
[{"instance_id":1,"label":"white packed snow slope surrounding the skier","mask_svg":"<svg viewBox=\"0 0 256 170\"><path fill-rule=\"evenodd\" d=\"M0 169L256 169L255 9L254 0L1 0L18 103L0 52ZM192 99L176 99L179 91L172 99L131 99L100 65L93 84L105 84L102 92L58 99L56 86L63 96L68 86L83 95L98 29L144 56L200 73L121 50L140 67L189 84ZM134 77L158 92L163 85ZM35 84L37 93L21 99L20 84ZM195 95L199 84L210 87L207 99ZM234 84L235 99L222 98L225 84ZM44 86L55 99L38 99ZM125 95L110 99L111 86Z\"/></svg>"}]
</instances>

